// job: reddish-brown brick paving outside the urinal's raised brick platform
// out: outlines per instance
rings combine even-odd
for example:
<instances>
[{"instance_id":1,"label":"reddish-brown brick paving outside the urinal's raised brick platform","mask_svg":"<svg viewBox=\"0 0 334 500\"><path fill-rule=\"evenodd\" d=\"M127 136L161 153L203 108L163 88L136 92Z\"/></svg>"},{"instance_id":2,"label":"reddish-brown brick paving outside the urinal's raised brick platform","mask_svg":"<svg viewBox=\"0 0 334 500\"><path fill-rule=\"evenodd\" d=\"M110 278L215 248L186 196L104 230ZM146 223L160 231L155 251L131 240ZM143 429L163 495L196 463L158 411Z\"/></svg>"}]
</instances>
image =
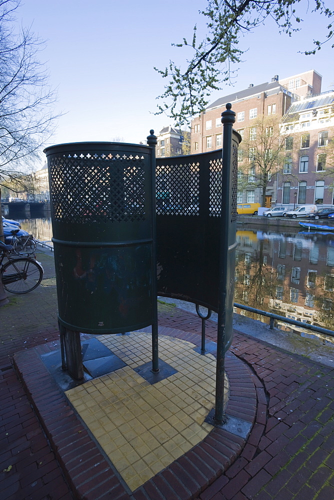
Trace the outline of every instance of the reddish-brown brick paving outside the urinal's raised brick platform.
<instances>
[{"instance_id":1,"label":"reddish-brown brick paving outside the urinal's raised brick platform","mask_svg":"<svg viewBox=\"0 0 334 500\"><path fill-rule=\"evenodd\" d=\"M26 295L11 295L10 303L0 309L1 500L73 498L74 479L64 476L12 363L15 352L58 340L56 290L49 279L54 277L51 258L38 254L37 259L46 270L45 286ZM164 304L160 305L159 326L198 337L201 331L195 314ZM207 321L206 333L208 340L216 339L213 321ZM208 474L216 464L216 456L210 454L219 442L214 436L206 452L190 450L168 473L158 474L138 490L136 500L333 500L334 370L238 332L230 350L250 370L248 377L241 376L235 397L242 402L250 379L256 388L256 418L247 442L203 491L196 491L196 484L198 475ZM36 366L31 369L35 371ZM37 376L36 383L40 383ZM41 389L47 392L47 386L41 384ZM68 431L72 431L70 426ZM67 459L78 453L85 456L88 467L94 459L89 440L80 441L79 448L69 446ZM122 497L116 477L106 473L100 481L110 481L113 496L101 496L99 485L90 480L94 500ZM84 493L80 497L85 498Z\"/></svg>"}]
</instances>

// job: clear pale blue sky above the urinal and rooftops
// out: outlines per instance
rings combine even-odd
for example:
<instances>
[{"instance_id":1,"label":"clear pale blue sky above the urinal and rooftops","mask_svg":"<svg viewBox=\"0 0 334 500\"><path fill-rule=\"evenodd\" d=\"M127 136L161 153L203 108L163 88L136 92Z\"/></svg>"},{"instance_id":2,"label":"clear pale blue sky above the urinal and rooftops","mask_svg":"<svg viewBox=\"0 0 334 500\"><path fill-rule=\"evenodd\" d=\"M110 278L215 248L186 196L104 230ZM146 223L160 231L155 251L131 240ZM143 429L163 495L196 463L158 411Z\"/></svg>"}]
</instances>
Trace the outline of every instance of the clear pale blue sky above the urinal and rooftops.
<instances>
[{"instance_id":1,"label":"clear pale blue sky above the urinal and rooftops","mask_svg":"<svg viewBox=\"0 0 334 500\"><path fill-rule=\"evenodd\" d=\"M24 0L23 0L24 1ZM307 4L306 0L301 1ZM154 116L162 78L153 66L164 68L169 59L181 61L190 48L171 42L192 38L192 27L203 24L198 10L205 0L26 0L16 12L23 25L47 40L41 52L47 61L50 83L58 88L58 120L52 140L45 144L112 140L139 142L153 128L173 124L165 115ZM315 69L322 75L322 91L334 87L330 46L315 55L298 54L312 46L313 33L323 33L317 16L308 12L302 31L292 38L279 35L272 22L248 33L240 42L247 50L234 79L235 90ZM224 88L210 101L231 92Z\"/></svg>"}]
</instances>

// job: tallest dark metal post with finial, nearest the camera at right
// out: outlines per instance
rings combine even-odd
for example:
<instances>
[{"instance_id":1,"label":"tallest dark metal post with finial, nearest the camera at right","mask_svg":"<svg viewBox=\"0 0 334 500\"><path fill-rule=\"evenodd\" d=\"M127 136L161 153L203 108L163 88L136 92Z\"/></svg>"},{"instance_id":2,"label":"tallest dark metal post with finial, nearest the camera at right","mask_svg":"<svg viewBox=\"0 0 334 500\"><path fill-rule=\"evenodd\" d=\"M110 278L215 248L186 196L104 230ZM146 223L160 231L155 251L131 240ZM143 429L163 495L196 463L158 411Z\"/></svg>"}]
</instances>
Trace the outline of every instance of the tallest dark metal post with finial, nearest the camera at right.
<instances>
[{"instance_id":1,"label":"tallest dark metal post with finial, nearest the camera at right","mask_svg":"<svg viewBox=\"0 0 334 500\"><path fill-rule=\"evenodd\" d=\"M221 113L222 130L222 172L220 205L220 249L219 249L219 288L218 288L218 327L217 327L217 363L215 381L214 421L225 421L224 408L224 372L225 372L225 333L227 309L227 268L228 268L228 228L230 224L230 177L232 159L232 131L235 112L231 104L226 104L226 111Z\"/></svg>"}]
</instances>

